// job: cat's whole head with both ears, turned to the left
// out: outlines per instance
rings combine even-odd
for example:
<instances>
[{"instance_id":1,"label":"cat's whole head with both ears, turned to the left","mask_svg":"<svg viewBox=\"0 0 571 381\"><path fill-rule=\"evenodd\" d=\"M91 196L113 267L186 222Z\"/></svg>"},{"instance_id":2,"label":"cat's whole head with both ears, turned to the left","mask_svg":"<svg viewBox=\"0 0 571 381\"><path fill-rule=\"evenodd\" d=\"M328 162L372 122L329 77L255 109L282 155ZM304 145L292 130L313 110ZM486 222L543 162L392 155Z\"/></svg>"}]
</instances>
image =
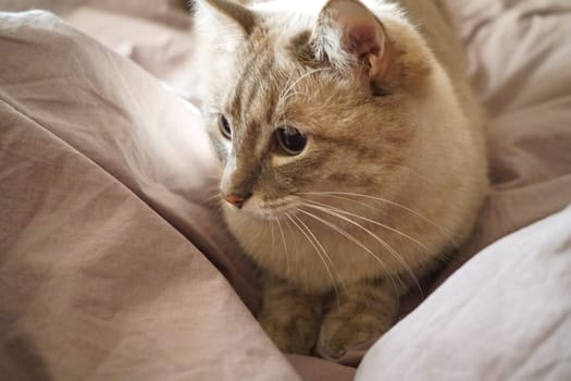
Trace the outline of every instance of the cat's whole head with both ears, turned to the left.
<instances>
[{"instance_id":1,"label":"cat's whole head with both ears, turned to the left","mask_svg":"<svg viewBox=\"0 0 571 381\"><path fill-rule=\"evenodd\" d=\"M397 10L387 14L358 0L313 13L199 3L213 52L206 111L229 204L273 218L312 193L394 192L432 66Z\"/></svg>"}]
</instances>

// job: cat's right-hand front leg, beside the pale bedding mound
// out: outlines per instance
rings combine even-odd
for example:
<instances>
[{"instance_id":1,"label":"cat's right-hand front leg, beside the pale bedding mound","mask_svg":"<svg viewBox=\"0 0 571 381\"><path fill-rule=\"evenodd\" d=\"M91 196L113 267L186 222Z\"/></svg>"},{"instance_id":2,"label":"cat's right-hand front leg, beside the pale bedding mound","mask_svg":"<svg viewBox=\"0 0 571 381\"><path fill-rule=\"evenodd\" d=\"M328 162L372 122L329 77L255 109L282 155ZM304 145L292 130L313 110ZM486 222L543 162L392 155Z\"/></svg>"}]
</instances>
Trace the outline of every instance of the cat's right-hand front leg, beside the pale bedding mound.
<instances>
[{"instance_id":1,"label":"cat's right-hand front leg, beside the pale bedding mound","mask_svg":"<svg viewBox=\"0 0 571 381\"><path fill-rule=\"evenodd\" d=\"M318 351L333 358L381 336L395 323L401 290L386 281L347 285L321 325Z\"/></svg>"}]
</instances>

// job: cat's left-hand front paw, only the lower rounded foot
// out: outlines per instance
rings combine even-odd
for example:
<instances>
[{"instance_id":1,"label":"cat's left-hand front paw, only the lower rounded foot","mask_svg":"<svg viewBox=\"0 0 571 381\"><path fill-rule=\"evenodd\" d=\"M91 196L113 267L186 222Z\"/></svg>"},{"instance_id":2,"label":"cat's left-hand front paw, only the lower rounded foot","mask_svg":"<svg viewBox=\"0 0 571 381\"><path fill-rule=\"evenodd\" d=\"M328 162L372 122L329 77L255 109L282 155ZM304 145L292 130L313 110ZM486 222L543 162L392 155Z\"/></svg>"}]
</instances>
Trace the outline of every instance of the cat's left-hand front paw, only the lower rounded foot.
<instances>
[{"instance_id":1,"label":"cat's left-hand front paw, only the lower rounded foot","mask_svg":"<svg viewBox=\"0 0 571 381\"><path fill-rule=\"evenodd\" d=\"M263 314L259 320L265 333L284 353L309 355L315 345L319 322L309 314L297 316Z\"/></svg>"}]
</instances>

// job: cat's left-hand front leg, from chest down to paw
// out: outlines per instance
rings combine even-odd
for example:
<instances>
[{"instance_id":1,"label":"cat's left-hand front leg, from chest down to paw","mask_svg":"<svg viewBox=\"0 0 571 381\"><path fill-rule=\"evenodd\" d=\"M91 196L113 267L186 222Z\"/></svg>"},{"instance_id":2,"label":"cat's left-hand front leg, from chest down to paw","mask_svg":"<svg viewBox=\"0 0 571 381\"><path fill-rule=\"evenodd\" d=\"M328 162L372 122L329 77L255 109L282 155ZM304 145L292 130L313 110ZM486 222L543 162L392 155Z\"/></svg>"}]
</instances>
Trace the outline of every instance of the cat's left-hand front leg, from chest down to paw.
<instances>
[{"instance_id":1,"label":"cat's left-hand front leg, from chest down to paw","mask_svg":"<svg viewBox=\"0 0 571 381\"><path fill-rule=\"evenodd\" d=\"M264 274L262 311L258 320L280 349L307 355L315 345L321 296L309 294L276 276Z\"/></svg>"}]
</instances>

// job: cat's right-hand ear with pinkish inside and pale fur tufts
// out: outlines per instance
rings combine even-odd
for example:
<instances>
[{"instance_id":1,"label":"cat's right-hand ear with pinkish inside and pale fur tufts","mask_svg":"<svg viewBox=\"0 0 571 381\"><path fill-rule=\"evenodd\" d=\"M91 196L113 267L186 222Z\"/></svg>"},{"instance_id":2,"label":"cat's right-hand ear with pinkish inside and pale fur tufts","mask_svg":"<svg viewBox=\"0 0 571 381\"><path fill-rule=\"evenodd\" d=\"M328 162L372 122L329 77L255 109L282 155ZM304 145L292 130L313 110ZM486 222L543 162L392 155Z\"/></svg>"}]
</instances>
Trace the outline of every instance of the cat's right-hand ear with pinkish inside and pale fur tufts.
<instances>
[{"instance_id":1,"label":"cat's right-hand ear with pinkish inside and pale fur tufts","mask_svg":"<svg viewBox=\"0 0 571 381\"><path fill-rule=\"evenodd\" d=\"M383 24L359 0L330 0L319 14L311 45L319 61L357 70L372 82L381 81L388 67Z\"/></svg>"}]
</instances>

